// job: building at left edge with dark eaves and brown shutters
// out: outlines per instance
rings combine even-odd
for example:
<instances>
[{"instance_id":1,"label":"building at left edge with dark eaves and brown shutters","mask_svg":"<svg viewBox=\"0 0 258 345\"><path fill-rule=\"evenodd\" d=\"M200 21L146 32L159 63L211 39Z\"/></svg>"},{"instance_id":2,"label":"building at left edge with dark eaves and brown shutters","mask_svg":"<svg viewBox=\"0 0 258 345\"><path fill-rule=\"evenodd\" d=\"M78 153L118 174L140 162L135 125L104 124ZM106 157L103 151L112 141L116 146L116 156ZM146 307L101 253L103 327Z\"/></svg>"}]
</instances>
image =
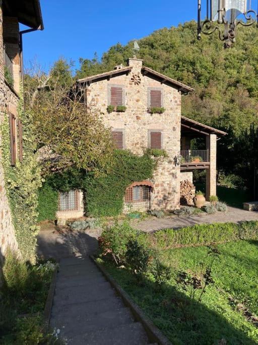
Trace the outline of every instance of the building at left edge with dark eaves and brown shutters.
<instances>
[{"instance_id":1,"label":"building at left edge with dark eaves and brown shutters","mask_svg":"<svg viewBox=\"0 0 258 345\"><path fill-rule=\"evenodd\" d=\"M19 23L28 26L28 30L20 31ZM0 125L4 117L8 116L12 166L15 166L17 160L22 160L22 123L17 116L23 76L22 36L39 29L43 29L39 0L0 0ZM7 247L18 248L1 161L0 150L0 259Z\"/></svg>"}]
</instances>

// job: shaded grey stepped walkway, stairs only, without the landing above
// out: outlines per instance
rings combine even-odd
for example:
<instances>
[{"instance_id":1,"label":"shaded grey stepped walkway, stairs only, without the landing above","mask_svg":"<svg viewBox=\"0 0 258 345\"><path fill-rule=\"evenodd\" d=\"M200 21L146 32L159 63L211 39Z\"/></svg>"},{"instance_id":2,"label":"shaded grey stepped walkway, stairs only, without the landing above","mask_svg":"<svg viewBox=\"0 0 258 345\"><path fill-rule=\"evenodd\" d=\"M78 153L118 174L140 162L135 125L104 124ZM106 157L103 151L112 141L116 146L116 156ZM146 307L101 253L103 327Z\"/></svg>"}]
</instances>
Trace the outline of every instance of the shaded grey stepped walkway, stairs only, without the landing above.
<instances>
[{"instance_id":1,"label":"shaded grey stepped walkway, stairs only, without the landing above","mask_svg":"<svg viewBox=\"0 0 258 345\"><path fill-rule=\"evenodd\" d=\"M50 325L68 344L149 343L142 324L89 258L60 260Z\"/></svg>"}]
</instances>

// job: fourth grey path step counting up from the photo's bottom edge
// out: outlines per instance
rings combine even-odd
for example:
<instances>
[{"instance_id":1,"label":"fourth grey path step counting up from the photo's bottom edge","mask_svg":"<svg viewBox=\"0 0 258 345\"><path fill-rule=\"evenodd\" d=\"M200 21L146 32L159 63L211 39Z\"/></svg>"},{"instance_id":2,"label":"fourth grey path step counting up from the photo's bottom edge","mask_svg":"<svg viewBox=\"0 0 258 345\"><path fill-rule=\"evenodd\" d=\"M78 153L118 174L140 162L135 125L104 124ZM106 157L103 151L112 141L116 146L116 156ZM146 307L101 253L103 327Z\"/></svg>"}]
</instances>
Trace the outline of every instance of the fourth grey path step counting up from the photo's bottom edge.
<instances>
[{"instance_id":1,"label":"fourth grey path step counting up from the photo's bottom edge","mask_svg":"<svg viewBox=\"0 0 258 345\"><path fill-rule=\"evenodd\" d=\"M91 286L91 289L84 289L84 286L58 288L58 290L55 290L53 305L63 306L66 304L97 301L110 297L115 297L115 291L110 287L108 282L95 287Z\"/></svg>"}]
</instances>

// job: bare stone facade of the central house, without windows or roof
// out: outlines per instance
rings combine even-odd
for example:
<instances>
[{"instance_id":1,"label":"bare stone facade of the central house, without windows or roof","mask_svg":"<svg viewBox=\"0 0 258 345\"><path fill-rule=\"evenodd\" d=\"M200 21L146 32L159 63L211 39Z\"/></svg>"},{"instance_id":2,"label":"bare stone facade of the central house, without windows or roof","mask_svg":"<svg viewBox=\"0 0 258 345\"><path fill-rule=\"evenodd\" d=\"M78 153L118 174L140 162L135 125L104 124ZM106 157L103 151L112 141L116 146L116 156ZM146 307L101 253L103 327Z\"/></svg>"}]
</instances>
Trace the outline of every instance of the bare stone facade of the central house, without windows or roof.
<instances>
[{"instance_id":1,"label":"bare stone facade of the central house, without windows or roof","mask_svg":"<svg viewBox=\"0 0 258 345\"><path fill-rule=\"evenodd\" d=\"M104 114L102 118L107 127L124 131L125 147L135 154L141 155L148 147L149 130L162 132L163 149L169 158L161 161L155 171L151 208L176 209L180 201L180 166L175 165L174 158L180 154L181 92L142 74L142 60L129 59L128 64L132 66L131 72L92 82L87 88L87 105ZM134 75L140 76L140 85L132 83ZM107 113L109 84L124 86L125 112ZM148 112L148 87L163 89L163 114Z\"/></svg>"}]
</instances>

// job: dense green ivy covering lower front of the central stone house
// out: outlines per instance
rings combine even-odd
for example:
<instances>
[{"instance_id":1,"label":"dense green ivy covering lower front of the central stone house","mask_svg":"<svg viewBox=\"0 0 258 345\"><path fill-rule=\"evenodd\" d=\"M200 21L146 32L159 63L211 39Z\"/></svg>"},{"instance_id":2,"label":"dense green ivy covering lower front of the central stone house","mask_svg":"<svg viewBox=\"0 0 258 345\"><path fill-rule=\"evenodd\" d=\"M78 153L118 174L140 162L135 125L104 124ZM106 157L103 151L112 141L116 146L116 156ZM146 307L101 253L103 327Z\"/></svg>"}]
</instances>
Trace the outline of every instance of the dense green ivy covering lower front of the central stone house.
<instances>
[{"instance_id":1,"label":"dense green ivy covering lower front of the central stone house","mask_svg":"<svg viewBox=\"0 0 258 345\"><path fill-rule=\"evenodd\" d=\"M69 191L82 189L85 194L85 213L88 216L117 216L123 209L123 197L128 185L135 181L152 178L159 158L153 158L151 151L143 156L133 154L128 150L115 150L112 166L101 177L95 177L85 170L68 169L63 173L55 173L46 177L45 186L56 197L54 191ZM165 156L165 152L156 153ZM50 189L49 189L50 188ZM43 189L41 190L43 192ZM40 198L39 219L44 218L43 212L49 208L46 199ZM53 208L52 208L53 211ZM46 216L46 213L45 213ZM51 215L52 217L52 215Z\"/></svg>"}]
</instances>

